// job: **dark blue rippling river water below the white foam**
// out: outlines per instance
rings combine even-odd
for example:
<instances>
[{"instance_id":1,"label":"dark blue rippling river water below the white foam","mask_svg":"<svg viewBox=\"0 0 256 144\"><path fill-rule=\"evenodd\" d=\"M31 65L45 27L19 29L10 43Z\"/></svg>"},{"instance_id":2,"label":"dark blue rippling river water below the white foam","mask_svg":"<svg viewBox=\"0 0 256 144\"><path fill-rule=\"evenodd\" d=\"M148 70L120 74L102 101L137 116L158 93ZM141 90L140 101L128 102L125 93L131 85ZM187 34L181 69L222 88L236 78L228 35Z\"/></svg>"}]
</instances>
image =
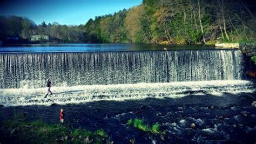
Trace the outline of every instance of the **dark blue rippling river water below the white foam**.
<instances>
[{"instance_id":1,"label":"dark blue rippling river water below the white foam","mask_svg":"<svg viewBox=\"0 0 256 144\"><path fill-rule=\"evenodd\" d=\"M58 124L60 108L71 128L92 131L103 128L114 143L255 143L256 108L251 106L255 93L188 95L172 99L97 101L80 105L18 106L0 108L3 118L14 111L24 113L28 120L44 120ZM247 115L245 115L247 114ZM127 120L140 118L149 125L159 122L166 129L160 135L146 134L126 125ZM191 124L196 128L191 128Z\"/></svg>"}]
</instances>

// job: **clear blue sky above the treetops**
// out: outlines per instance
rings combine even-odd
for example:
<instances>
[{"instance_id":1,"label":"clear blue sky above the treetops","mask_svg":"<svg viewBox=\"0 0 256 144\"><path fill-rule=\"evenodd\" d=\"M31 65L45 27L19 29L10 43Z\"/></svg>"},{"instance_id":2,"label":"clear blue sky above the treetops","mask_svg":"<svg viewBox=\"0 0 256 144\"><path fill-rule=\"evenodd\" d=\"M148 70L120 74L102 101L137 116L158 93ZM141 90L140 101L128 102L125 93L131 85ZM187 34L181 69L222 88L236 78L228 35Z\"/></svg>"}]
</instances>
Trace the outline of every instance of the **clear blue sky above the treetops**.
<instances>
[{"instance_id":1,"label":"clear blue sky above the treetops","mask_svg":"<svg viewBox=\"0 0 256 144\"><path fill-rule=\"evenodd\" d=\"M28 17L66 25L85 24L90 18L139 5L142 0L0 0L0 15Z\"/></svg>"}]
</instances>

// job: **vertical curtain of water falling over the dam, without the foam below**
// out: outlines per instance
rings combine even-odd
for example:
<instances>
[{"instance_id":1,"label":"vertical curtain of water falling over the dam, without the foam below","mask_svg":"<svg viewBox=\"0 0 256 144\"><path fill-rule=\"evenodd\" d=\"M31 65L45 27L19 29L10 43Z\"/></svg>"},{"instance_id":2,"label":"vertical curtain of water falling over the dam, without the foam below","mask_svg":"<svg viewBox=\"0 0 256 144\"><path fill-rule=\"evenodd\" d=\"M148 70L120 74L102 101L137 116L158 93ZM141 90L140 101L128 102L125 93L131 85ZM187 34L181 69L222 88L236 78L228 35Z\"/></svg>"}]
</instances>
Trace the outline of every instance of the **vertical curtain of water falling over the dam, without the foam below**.
<instances>
[{"instance_id":1,"label":"vertical curtain of water falling over the dam, without the foam below","mask_svg":"<svg viewBox=\"0 0 256 144\"><path fill-rule=\"evenodd\" d=\"M0 88L240 80L239 50L0 54Z\"/></svg>"}]
</instances>

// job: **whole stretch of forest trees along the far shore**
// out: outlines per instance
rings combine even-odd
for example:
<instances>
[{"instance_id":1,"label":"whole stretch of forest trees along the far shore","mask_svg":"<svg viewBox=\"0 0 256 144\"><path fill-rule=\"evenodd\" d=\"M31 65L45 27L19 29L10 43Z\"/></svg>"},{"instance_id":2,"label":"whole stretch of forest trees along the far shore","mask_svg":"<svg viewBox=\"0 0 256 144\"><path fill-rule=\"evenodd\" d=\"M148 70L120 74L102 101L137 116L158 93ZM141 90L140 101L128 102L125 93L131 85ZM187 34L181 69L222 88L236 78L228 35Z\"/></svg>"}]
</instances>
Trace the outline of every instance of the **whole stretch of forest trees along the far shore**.
<instances>
[{"instance_id":1,"label":"whole stretch of forest trees along the far shore","mask_svg":"<svg viewBox=\"0 0 256 144\"><path fill-rule=\"evenodd\" d=\"M0 39L48 35L54 43L207 44L255 42L255 5L244 0L144 0L81 25L0 16Z\"/></svg>"}]
</instances>

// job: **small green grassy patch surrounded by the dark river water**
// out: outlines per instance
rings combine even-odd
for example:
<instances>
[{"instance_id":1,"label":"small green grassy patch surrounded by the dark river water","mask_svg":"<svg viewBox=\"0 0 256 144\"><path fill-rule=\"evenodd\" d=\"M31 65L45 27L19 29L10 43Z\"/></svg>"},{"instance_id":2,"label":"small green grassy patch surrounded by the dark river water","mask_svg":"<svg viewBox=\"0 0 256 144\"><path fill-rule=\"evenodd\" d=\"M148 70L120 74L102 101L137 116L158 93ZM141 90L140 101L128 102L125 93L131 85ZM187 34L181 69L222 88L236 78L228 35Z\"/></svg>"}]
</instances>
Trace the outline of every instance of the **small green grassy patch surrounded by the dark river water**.
<instances>
[{"instance_id":1,"label":"small green grassy patch surrounded by the dark river water","mask_svg":"<svg viewBox=\"0 0 256 144\"><path fill-rule=\"evenodd\" d=\"M137 129L140 129L141 131L144 131L146 133L151 133L151 134L165 134L166 131L161 131L160 130L160 124L156 123L152 126L145 124L145 122L142 119L130 119L126 122L127 125L129 126L134 126Z\"/></svg>"}]
</instances>

